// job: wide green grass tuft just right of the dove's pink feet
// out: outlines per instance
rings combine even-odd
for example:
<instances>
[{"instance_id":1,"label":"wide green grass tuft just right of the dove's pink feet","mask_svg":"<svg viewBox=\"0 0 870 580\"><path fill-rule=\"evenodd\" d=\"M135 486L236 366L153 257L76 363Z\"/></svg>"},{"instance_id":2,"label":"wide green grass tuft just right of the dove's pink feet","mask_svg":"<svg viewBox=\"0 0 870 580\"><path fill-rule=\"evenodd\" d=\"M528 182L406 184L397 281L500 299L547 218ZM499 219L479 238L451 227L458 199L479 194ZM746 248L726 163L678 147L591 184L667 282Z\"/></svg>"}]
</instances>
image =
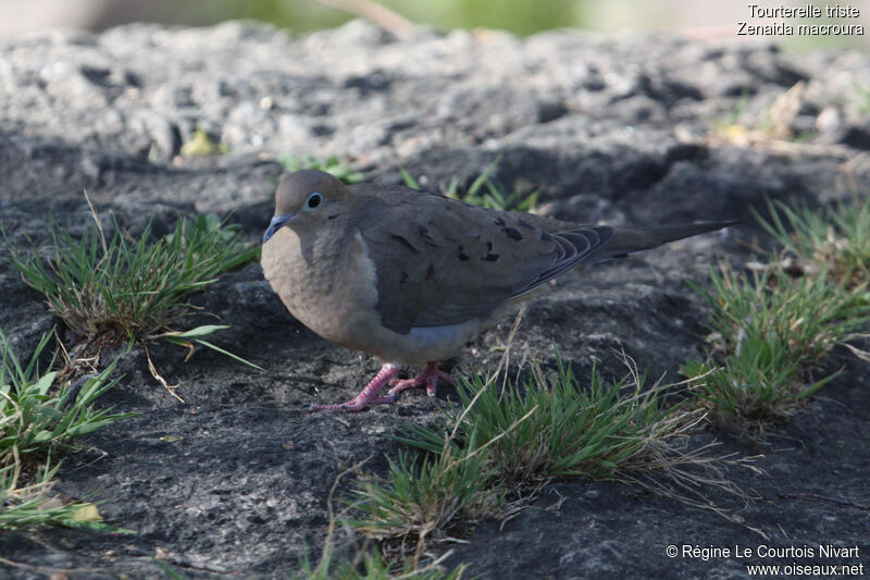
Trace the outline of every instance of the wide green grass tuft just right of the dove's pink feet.
<instances>
[{"instance_id":1,"label":"wide green grass tuft just right of the dove's pink feet","mask_svg":"<svg viewBox=\"0 0 870 580\"><path fill-rule=\"evenodd\" d=\"M638 481L660 471L688 478L680 466L705 462L674 445L700 415L660 400L663 387L646 388L645 378L607 384L593 369L581 385L557 355L558 371L533 369L521 387L487 386L481 377L458 388L463 410L459 441L488 442L484 468L518 495L560 477ZM473 405L472 405L472 402ZM517 418L525 418L514 425ZM443 427L409 425L401 441L434 452L443 447Z\"/></svg>"}]
</instances>

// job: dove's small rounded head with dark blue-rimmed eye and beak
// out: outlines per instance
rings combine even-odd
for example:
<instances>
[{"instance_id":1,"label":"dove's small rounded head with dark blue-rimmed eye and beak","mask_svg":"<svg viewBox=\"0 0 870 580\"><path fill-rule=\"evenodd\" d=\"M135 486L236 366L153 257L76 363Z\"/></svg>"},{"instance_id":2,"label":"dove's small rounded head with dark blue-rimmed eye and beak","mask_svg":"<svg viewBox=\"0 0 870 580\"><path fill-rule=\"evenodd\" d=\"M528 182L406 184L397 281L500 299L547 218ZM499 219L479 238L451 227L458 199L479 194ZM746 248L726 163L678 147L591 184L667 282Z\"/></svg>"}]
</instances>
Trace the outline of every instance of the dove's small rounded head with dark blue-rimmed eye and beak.
<instances>
[{"instance_id":1,"label":"dove's small rounded head with dark blue-rimmed eye and beak","mask_svg":"<svg viewBox=\"0 0 870 580\"><path fill-rule=\"evenodd\" d=\"M263 244L285 225L314 229L338 217L352 194L338 178L313 169L285 175L275 192L275 215L263 234Z\"/></svg>"}]
</instances>

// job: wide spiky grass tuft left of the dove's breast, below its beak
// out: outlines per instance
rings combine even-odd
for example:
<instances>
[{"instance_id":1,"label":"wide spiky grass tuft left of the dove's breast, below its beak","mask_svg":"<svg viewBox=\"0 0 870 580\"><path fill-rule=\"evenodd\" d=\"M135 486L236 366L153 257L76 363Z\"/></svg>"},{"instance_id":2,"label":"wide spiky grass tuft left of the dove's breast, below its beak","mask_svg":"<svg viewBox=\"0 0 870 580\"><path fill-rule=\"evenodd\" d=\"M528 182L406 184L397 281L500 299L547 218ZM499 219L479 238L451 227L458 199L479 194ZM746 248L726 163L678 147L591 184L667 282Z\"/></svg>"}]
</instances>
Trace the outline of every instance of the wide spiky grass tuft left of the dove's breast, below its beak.
<instances>
[{"instance_id":1,"label":"wide spiky grass tuft left of the dove's breast, below its beak","mask_svg":"<svg viewBox=\"0 0 870 580\"><path fill-rule=\"evenodd\" d=\"M194 312L185 298L259 251L245 247L238 227L216 215L182 218L173 233L156 240L150 224L139 239L128 239L115 224L107 240L96 213L95 222L79 239L55 225L51 258L36 250L26 256L7 244L25 283L44 294L49 308L87 345L189 338L174 330ZM199 326L188 333L217 349L202 336L223 328Z\"/></svg>"}]
</instances>

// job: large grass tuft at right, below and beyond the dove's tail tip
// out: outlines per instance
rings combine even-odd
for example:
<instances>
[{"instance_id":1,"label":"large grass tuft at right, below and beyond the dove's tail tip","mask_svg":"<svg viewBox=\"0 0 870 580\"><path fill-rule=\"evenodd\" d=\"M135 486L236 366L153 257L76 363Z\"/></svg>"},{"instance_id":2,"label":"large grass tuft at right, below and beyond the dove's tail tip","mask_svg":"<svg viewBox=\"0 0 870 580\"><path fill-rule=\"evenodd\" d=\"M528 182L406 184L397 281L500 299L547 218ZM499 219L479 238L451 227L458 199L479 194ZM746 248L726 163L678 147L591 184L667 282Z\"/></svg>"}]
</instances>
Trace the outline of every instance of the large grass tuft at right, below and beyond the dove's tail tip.
<instances>
[{"instance_id":1,"label":"large grass tuft at right, below and beyond the dove's tail tip","mask_svg":"<svg viewBox=\"0 0 870 580\"><path fill-rule=\"evenodd\" d=\"M791 277L769 269L751 277L722 264L712 289L694 286L712 309L706 361L682 368L693 393L720 425L758 431L783 420L834 374L811 370L870 320L866 286L845 291L824 272Z\"/></svg>"}]
</instances>

